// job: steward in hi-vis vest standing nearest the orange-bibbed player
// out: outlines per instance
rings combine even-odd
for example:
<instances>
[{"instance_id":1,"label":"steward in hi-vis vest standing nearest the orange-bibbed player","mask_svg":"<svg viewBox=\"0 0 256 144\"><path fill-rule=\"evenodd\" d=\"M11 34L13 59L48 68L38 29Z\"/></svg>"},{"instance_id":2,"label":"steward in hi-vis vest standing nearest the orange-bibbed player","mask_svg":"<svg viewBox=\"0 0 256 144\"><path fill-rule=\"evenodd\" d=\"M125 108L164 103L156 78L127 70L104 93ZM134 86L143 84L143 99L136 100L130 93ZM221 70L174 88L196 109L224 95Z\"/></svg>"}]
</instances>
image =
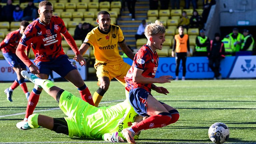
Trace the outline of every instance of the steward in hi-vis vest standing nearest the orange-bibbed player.
<instances>
[{"instance_id":1,"label":"steward in hi-vis vest standing nearest the orange-bibbed player","mask_svg":"<svg viewBox=\"0 0 256 144\"><path fill-rule=\"evenodd\" d=\"M195 56L207 56L207 47L209 46L210 40L205 35L204 29L201 29L199 36L196 37Z\"/></svg>"}]
</instances>

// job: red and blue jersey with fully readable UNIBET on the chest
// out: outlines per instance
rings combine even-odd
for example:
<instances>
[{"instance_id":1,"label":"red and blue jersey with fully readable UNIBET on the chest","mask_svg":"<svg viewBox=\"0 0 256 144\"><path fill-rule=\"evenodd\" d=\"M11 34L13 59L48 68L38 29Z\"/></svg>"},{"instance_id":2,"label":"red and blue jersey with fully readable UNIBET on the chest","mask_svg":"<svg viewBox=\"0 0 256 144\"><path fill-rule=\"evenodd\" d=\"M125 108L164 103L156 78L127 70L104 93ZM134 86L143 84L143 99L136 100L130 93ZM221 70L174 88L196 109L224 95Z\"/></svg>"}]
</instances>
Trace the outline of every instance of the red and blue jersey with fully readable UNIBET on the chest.
<instances>
[{"instance_id":1,"label":"red and blue jersey with fully readable UNIBET on the chest","mask_svg":"<svg viewBox=\"0 0 256 144\"><path fill-rule=\"evenodd\" d=\"M43 24L37 18L27 26L20 44L24 46L31 44L35 54L35 63L51 61L65 54L61 46L61 33L66 32L67 29L60 17L52 16L48 25Z\"/></svg>"}]
</instances>

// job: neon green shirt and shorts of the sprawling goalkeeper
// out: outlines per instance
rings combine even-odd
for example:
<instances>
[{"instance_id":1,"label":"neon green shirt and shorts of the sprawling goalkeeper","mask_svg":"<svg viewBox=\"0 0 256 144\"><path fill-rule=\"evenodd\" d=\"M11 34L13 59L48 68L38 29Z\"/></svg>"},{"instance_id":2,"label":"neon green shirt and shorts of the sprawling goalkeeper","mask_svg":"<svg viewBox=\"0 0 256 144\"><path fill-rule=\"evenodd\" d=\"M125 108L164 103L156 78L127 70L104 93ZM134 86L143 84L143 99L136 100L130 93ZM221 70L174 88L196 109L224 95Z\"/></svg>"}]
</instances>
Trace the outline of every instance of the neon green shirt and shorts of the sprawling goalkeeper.
<instances>
[{"instance_id":1,"label":"neon green shirt and shorts of the sprawling goalkeeper","mask_svg":"<svg viewBox=\"0 0 256 144\"><path fill-rule=\"evenodd\" d=\"M61 97L59 106L68 116L69 136L82 138L103 138L104 134L118 132L132 125L138 114L128 101L108 107L94 107L80 98L72 96L70 101ZM66 107L66 108L64 108Z\"/></svg>"}]
</instances>

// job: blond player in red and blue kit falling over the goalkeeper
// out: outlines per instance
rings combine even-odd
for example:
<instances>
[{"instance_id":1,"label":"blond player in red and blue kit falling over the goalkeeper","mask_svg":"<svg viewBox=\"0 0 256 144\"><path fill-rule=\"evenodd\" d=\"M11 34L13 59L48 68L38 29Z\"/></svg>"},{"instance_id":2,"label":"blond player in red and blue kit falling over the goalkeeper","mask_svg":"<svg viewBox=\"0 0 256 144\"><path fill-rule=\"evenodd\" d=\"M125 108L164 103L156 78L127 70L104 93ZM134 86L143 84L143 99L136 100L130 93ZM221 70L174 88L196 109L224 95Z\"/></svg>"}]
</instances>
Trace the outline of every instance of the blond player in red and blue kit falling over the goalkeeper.
<instances>
[{"instance_id":1,"label":"blond player in red and blue kit falling over the goalkeeper","mask_svg":"<svg viewBox=\"0 0 256 144\"><path fill-rule=\"evenodd\" d=\"M157 87L153 83L169 83L172 76L160 76L155 78L158 67L158 55L156 50L161 50L165 41L165 27L158 20L145 28L147 44L143 45L135 54L133 64L126 74L126 90L129 91L129 101L135 112L147 119L136 125L123 129L122 133L128 143L136 143L134 135L151 128L164 127L175 123L179 119L179 112L173 107L155 99L151 89L167 95L168 90Z\"/></svg>"}]
</instances>

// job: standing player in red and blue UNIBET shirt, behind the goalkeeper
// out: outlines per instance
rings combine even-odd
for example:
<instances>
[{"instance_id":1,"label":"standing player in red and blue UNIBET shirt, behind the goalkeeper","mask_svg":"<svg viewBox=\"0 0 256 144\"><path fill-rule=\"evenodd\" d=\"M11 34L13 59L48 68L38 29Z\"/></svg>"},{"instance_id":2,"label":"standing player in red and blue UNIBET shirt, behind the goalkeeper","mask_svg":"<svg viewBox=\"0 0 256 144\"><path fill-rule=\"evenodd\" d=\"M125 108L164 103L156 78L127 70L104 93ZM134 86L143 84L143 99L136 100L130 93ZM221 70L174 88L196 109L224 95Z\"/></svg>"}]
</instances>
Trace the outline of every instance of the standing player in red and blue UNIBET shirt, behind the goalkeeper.
<instances>
[{"instance_id":1,"label":"standing player in red and blue UNIBET shirt, behind the goalkeeper","mask_svg":"<svg viewBox=\"0 0 256 144\"><path fill-rule=\"evenodd\" d=\"M63 35L76 54L75 57L79 64L85 62L85 59L78 51L74 39L67 31L63 20L53 16L52 4L49 1L40 2L38 8L39 18L26 28L16 50L17 56L29 67L32 73L42 79L48 79L50 72L52 70L55 71L77 87L83 100L94 105L89 89L61 46L61 35ZM30 44L35 54L34 62L36 65L24 53L24 49ZM42 88L37 86L32 90L27 104L26 115L22 121L24 124L28 116L33 113L41 92Z\"/></svg>"}]
</instances>

